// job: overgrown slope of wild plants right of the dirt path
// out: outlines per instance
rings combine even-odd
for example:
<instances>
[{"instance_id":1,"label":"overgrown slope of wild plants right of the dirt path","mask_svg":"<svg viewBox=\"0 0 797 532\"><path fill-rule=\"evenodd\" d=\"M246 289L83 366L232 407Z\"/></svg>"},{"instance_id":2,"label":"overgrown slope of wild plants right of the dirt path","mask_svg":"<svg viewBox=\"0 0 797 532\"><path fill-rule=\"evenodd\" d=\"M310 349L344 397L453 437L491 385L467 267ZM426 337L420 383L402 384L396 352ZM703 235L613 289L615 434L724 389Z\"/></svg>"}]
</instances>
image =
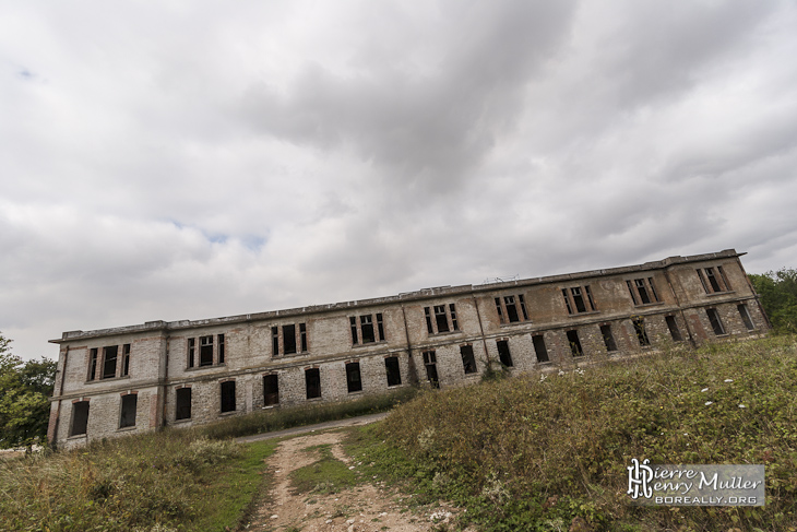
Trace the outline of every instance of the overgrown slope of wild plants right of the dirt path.
<instances>
[{"instance_id":1,"label":"overgrown slope of wild plants right of the dirt path","mask_svg":"<svg viewBox=\"0 0 797 532\"><path fill-rule=\"evenodd\" d=\"M776 336L428 392L349 451L484 530L797 530L797 343ZM632 458L763 463L765 507L634 507Z\"/></svg>"}]
</instances>

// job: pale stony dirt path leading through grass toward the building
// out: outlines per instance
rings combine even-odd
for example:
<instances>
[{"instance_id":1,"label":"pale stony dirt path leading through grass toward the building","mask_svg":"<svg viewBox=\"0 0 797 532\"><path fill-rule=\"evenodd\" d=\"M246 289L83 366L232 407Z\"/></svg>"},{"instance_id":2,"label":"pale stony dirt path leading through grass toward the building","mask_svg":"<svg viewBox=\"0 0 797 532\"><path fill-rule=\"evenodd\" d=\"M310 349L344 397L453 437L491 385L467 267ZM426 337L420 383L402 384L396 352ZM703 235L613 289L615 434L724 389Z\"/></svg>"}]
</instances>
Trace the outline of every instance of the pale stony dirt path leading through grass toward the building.
<instances>
[{"instance_id":1,"label":"pale stony dirt path leading through grass toward the building","mask_svg":"<svg viewBox=\"0 0 797 532\"><path fill-rule=\"evenodd\" d=\"M341 431L328 431L299 436L279 444L267 462L269 472L274 476L272 493L257 508L251 522L242 530L258 532L444 530L440 525L449 523L459 512L457 509L445 505L435 505L433 508L414 513L406 504L412 496L384 487L378 478L335 494L294 494L290 487L290 472L321 459L320 452L305 450L308 447L330 445L334 458L344 462L350 470L357 470L360 464L353 462L341 446L343 437L344 434Z\"/></svg>"}]
</instances>

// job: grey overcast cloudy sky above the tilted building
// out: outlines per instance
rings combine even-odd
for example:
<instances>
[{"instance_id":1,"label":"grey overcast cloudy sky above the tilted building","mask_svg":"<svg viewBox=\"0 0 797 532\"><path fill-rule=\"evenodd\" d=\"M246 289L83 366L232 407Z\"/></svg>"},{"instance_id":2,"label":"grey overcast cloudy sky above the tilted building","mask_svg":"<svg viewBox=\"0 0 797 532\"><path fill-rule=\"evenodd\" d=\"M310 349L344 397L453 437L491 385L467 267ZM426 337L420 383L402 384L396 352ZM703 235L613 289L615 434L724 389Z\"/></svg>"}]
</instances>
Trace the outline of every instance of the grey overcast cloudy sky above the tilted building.
<instances>
[{"instance_id":1,"label":"grey overcast cloudy sky above the tilted building","mask_svg":"<svg viewBox=\"0 0 797 532\"><path fill-rule=\"evenodd\" d=\"M736 248L797 267L789 1L5 0L0 331Z\"/></svg>"}]
</instances>

